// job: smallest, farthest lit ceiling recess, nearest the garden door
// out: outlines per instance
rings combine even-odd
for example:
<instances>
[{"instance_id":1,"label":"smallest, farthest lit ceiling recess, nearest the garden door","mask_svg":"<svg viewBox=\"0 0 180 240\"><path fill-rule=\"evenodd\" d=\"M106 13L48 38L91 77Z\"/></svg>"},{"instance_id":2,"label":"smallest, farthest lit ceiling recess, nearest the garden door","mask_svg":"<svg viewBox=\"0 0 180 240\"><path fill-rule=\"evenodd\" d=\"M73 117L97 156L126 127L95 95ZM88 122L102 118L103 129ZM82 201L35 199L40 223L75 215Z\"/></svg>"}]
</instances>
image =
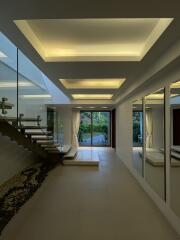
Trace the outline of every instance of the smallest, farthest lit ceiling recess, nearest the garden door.
<instances>
[{"instance_id":1,"label":"smallest, farthest lit ceiling recess, nearest the garden door","mask_svg":"<svg viewBox=\"0 0 180 240\"><path fill-rule=\"evenodd\" d=\"M72 97L76 100L110 100L112 98L113 94L72 94Z\"/></svg>"}]
</instances>

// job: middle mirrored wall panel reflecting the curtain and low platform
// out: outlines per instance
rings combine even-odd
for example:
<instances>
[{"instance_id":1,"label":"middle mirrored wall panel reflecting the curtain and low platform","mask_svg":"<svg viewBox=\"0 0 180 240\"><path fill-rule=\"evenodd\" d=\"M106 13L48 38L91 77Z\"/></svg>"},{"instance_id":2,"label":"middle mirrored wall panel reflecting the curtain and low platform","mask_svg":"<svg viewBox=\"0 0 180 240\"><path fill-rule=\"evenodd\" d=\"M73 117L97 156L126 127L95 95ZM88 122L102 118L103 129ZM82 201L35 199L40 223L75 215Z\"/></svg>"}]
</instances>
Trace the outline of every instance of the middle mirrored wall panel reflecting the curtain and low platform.
<instances>
[{"instance_id":1,"label":"middle mirrored wall panel reflecting the curtain and low platform","mask_svg":"<svg viewBox=\"0 0 180 240\"><path fill-rule=\"evenodd\" d=\"M145 97L145 179L164 199L164 89Z\"/></svg>"}]
</instances>

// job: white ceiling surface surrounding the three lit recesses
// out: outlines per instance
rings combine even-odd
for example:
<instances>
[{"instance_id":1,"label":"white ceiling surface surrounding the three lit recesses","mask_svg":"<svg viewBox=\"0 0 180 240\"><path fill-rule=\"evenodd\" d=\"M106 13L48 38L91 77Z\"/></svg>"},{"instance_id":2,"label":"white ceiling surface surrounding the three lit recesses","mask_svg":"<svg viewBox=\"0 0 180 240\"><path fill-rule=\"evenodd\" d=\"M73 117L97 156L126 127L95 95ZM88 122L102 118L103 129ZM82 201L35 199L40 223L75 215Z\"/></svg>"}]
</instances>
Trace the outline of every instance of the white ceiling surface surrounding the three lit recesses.
<instances>
[{"instance_id":1,"label":"white ceiling surface surrounding the three lit recesses","mask_svg":"<svg viewBox=\"0 0 180 240\"><path fill-rule=\"evenodd\" d=\"M104 60L103 57L96 57L94 59L95 61L74 61L73 58L71 58L71 61L61 60L59 62L46 62L30 43L30 40L25 37L25 35L14 23L14 20L119 20L124 18L174 18L174 20L164 33L161 34L151 47L150 51L147 52L141 61L120 61L118 58L113 56L113 61L110 57L108 57L107 60ZM112 100L72 100L74 104L79 105L81 105L82 102L84 104L112 104L119 102L131 97L134 94L137 95L137 92L142 91L142 89L145 90L146 86L153 80L161 81L163 77L171 77L169 68L172 71L175 66L179 66L179 48L175 48L173 51L175 54L170 54L170 57L168 55L169 58L167 57L167 52L171 50L170 47L174 46L178 39L180 39L179 26L179 0L175 0L173 4L167 4L164 0L151 0L149 3L146 1L140 1L137 3L137 1L128 0L123 2L117 0L61 0L54 2L52 2L52 0L6 0L1 4L0 8L0 31L5 34L26 56L28 56L30 60L35 63L42 72L56 84L57 87L63 90L68 97L71 98L71 94L60 83L59 79L126 78L126 81L122 84L118 91L114 92ZM150 30L150 26L147 29ZM137 40L140 41L140 34L137 27L134 27L134 32L137 33ZM88 36L88 31L86 31L86 33ZM58 35L58 33L56 34ZM111 35L107 34L107 32L105 32L104 35L107 39L111 37ZM93 35L90 34L90 36ZM167 61L164 61L164 58L161 58L164 54L166 54L165 57ZM154 67L157 67L159 62L162 63L162 68L160 65L160 68L156 68L157 71L154 71ZM164 62L166 64L164 64ZM160 72L160 70L162 71ZM158 75L156 73L158 73ZM89 91L88 89L81 90L86 93ZM100 90L101 89L94 89L93 93L109 93L109 89ZM79 90L73 89L73 93L78 94Z\"/></svg>"}]
</instances>

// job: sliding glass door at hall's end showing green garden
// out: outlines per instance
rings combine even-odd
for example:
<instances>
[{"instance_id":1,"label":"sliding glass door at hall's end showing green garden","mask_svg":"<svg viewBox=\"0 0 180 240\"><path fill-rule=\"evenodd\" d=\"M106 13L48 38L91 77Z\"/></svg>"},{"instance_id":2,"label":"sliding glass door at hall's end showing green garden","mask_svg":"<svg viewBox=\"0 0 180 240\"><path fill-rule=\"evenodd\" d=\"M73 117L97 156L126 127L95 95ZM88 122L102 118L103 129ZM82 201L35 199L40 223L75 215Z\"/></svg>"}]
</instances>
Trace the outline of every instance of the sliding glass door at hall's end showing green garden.
<instances>
[{"instance_id":1,"label":"sliding glass door at hall's end showing green garden","mask_svg":"<svg viewBox=\"0 0 180 240\"><path fill-rule=\"evenodd\" d=\"M108 111L81 111L80 146L110 146L111 113Z\"/></svg>"}]
</instances>

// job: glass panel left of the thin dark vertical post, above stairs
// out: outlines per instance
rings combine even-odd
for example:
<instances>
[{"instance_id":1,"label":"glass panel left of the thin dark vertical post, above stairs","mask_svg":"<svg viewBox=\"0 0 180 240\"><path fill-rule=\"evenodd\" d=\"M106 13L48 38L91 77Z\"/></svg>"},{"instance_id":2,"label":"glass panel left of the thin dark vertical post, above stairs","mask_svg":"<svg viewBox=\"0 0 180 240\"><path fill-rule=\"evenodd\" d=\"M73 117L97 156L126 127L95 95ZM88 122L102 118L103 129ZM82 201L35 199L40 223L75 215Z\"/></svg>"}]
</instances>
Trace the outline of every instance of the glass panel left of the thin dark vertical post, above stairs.
<instances>
[{"instance_id":1,"label":"glass panel left of the thin dark vertical post, above stairs","mask_svg":"<svg viewBox=\"0 0 180 240\"><path fill-rule=\"evenodd\" d=\"M2 118L17 117L16 59L17 48L0 32L0 117Z\"/></svg>"}]
</instances>

